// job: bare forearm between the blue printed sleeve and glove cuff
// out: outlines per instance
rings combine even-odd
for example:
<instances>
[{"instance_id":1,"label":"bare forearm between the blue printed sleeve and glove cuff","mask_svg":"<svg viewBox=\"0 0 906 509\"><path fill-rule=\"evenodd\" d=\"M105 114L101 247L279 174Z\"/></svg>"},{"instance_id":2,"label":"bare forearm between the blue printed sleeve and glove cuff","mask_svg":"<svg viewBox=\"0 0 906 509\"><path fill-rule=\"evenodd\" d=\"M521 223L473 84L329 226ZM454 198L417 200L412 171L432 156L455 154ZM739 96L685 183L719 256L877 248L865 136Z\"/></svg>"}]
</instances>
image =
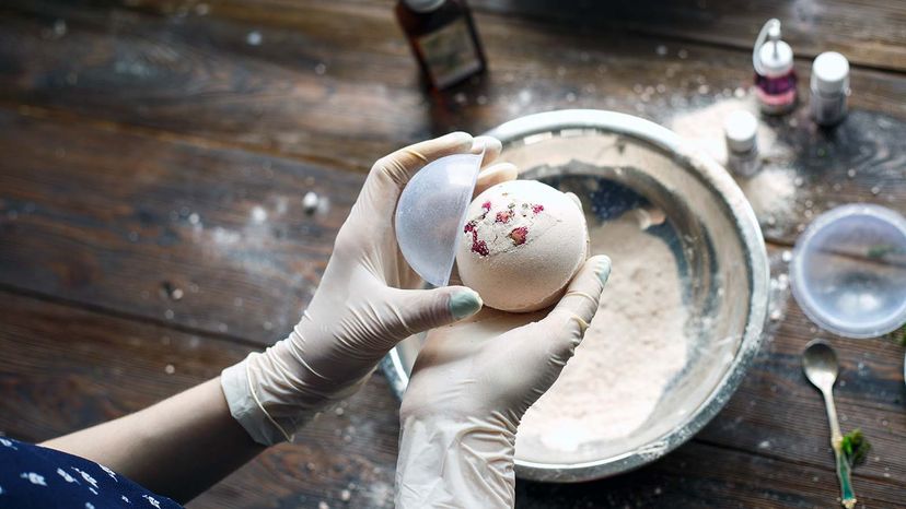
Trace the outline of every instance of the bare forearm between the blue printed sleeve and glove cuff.
<instances>
[{"instance_id":1,"label":"bare forearm between the blue printed sleeve and glove cuff","mask_svg":"<svg viewBox=\"0 0 906 509\"><path fill-rule=\"evenodd\" d=\"M230 415L220 378L42 446L101 463L181 502L265 449Z\"/></svg>"}]
</instances>

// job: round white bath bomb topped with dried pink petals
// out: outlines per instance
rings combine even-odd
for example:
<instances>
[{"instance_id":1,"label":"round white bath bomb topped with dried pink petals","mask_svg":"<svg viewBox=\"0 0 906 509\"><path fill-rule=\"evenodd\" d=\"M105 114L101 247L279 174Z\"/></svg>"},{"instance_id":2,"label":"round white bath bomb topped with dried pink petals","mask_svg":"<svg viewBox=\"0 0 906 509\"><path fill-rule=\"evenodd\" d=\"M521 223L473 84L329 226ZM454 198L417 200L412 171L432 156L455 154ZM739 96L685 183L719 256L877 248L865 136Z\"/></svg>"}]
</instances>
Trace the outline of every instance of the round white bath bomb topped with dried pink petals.
<instances>
[{"instance_id":1,"label":"round white bath bomb topped with dried pink petals","mask_svg":"<svg viewBox=\"0 0 906 509\"><path fill-rule=\"evenodd\" d=\"M535 311L564 294L588 254L585 216L565 193L535 180L499 184L468 206L456 264L486 305Z\"/></svg>"}]
</instances>

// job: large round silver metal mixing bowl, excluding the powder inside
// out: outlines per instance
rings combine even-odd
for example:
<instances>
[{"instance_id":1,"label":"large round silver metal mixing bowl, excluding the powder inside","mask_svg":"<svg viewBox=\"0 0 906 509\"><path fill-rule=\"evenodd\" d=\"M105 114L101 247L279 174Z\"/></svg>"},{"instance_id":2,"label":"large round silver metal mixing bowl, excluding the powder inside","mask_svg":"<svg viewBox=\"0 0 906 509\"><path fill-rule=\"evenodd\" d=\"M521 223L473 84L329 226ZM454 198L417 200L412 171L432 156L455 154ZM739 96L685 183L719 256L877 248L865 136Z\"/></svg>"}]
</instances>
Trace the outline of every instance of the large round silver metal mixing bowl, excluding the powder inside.
<instances>
[{"instance_id":1,"label":"large round silver metal mixing bowl, excluding the powder inside","mask_svg":"<svg viewBox=\"0 0 906 509\"><path fill-rule=\"evenodd\" d=\"M653 211L665 216L644 234L657 235L669 247L687 313L687 360L670 379L643 425L618 440L601 440L570 452L518 440L516 475L579 482L615 475L660 458L723 407L758 350L768 307L769 268L752 208L720 165L673 132L629 115L551 111L512 120L488 134L503 142L500 161L514 163L520 178L538 179L580 197L592 227L592 244L594 225L627 211L640 209L648 215ZM599 240L605 245L622 241ZM614 271L618 270L615 263ZM420 342L421 338L409 338L383 360L397 395L406 389Z\"/></svg>"}]
</instances>

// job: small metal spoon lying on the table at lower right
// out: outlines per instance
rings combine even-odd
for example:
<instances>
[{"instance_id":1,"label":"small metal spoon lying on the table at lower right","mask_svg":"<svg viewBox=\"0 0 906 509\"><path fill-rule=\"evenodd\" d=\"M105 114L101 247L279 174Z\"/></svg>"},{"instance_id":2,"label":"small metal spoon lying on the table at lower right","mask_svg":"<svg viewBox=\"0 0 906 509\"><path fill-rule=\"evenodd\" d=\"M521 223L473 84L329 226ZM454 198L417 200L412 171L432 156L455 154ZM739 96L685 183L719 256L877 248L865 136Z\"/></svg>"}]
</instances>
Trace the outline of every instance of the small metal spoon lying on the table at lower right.
<instances>
[{"instance_id":1,"label":"small metal spoon lying on the table at lower right","mask_svg":"<svg viewBox=\"0 0 906 509\"><path fill-rule=\"evenodd\" d=\"M856 506L856 495L852 493L852 481L849 478L849 462L844 457L840 445L840 424L837 422L837 409L834 406L834 382L837 381L837 354L829 344L822 340L813 340L802 353L802 370L805 378L824 395L824 405L827 409L827 421L830 423L830 446L837 460L837 478L840 481L840 504L847 509Z\"/></svg>"}]
</instances>

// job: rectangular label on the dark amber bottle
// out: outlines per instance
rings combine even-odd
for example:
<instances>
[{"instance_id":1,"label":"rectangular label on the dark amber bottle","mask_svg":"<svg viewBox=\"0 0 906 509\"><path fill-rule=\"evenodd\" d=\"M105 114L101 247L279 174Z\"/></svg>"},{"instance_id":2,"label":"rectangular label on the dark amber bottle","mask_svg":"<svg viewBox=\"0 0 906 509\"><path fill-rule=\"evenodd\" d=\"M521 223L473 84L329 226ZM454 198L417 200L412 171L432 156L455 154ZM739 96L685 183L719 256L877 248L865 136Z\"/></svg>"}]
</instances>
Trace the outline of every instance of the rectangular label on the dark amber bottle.
<instances>
[{"instance_id":1,"label":"rectangular label on the dark amber bottle","mask_svg":"<svg viewBox=\"0 0 906 509\"><path fill-rule=\"evenodd\" d=\"M434 86L443 88L481 69L465 19L416 39Z\"/></svg>"}]
</instances>

